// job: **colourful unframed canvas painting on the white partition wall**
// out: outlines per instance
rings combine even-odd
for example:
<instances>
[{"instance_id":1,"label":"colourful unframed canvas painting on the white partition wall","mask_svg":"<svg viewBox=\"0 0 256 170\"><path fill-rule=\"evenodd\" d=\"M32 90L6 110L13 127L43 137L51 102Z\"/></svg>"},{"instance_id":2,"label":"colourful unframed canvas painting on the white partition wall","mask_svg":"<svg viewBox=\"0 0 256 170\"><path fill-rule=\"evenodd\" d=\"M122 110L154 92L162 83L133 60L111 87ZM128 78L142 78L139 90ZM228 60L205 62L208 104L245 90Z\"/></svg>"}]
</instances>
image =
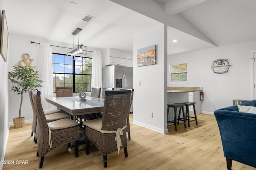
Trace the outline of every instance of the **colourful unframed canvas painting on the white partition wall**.
<instances>
[{"instance_id":1,"label":"colourful unframed canvas painting on the white partition wall","mask_svg":"<svg viewBox=\"0 0 256 170\"><path fill-rule=\"evenodd\" d=\"M156 64L156 45L140 48L137 50L137 65L138 67L144 65Z\"/></svg>"}]
</instances>

